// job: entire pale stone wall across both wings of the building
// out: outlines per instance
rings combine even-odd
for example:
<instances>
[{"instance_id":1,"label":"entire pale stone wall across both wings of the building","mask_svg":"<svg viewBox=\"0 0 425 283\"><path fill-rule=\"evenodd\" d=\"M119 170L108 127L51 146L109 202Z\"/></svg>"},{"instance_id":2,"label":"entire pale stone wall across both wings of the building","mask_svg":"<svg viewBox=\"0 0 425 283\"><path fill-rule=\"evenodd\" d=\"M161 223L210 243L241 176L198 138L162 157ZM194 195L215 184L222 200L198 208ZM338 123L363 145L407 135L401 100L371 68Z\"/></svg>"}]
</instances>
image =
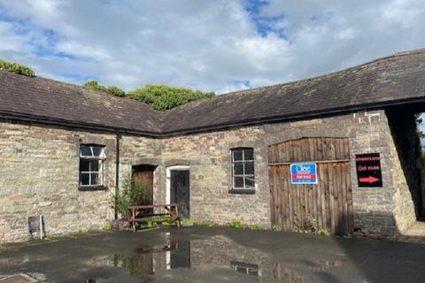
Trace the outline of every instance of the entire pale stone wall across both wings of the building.
<instances>
[{"instance_id":1,"label":"entire pale stone wall across both wings of the building","mask_svg":"<svg viewBox=\"0 0 425 283\"><path fill-rule=\"evenodd\" d=\"M354 226L373 235L393 235L415 220L412 195L384 111L244 126L228 130L153 139L120 138L120 180L132 165L153 164L154 202L166 203L166 168L189 165L190 216L196 221L270 227L267 147L302 137L347 137L351 151ZM106 149L102 191L81 191L79 146L103 144ZM54 126L0 121L0 241L27 239L27 216L42 214L46 232L73 233L97 229L113 218L115 134L90 133ZM231 149L252 147L255 194L229 193ZM358 187L354 157L379 152L383 187Z\"/></svg>"}]
</instances>

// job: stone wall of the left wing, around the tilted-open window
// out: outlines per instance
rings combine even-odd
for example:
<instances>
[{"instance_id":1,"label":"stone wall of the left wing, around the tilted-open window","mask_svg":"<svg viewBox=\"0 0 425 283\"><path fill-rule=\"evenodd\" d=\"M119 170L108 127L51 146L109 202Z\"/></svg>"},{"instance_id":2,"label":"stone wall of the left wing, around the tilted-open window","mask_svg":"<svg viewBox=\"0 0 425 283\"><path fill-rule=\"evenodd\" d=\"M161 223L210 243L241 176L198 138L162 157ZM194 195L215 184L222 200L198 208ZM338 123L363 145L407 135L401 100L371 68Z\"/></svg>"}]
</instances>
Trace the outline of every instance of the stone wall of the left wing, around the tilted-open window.
<instances>
[{"instance_id":1,"label":"stone wall of the left wing, around the tilted-open window","mask_svg":"<svg viewBox=\"0 0 425 283\"><path fill-rule=\"evenodd\" d=\"M120 142L122 177L132 164L160 155L154 139L123 136ZM79 189L81 143L105 146L103 190ZM113 218L115 160L115 134L0 121L0 241L27 240L27 216L40 214L47 235L105 226Z\"/></svg>"}]
</instances>

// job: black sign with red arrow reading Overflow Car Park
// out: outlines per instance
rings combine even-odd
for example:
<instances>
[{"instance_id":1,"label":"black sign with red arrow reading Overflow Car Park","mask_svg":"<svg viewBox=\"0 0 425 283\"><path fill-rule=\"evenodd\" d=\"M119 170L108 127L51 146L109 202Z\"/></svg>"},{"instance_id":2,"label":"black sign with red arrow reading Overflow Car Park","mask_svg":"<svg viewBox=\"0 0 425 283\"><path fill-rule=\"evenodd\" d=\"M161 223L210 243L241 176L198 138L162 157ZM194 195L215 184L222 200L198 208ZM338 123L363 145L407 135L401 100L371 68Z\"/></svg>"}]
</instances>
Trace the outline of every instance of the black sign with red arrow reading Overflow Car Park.
<instances>
[{"instance_id":1,"label":"black sign with red arrow reading Overflow Car Park","mask_svg":"<svg viewBox=\"0 0 425 283\"><path fill-rule=\"evenodd\" d=\"M356 170L359 187L383 187L379 153L356 155Z\"/></svg>"}]
</instances>

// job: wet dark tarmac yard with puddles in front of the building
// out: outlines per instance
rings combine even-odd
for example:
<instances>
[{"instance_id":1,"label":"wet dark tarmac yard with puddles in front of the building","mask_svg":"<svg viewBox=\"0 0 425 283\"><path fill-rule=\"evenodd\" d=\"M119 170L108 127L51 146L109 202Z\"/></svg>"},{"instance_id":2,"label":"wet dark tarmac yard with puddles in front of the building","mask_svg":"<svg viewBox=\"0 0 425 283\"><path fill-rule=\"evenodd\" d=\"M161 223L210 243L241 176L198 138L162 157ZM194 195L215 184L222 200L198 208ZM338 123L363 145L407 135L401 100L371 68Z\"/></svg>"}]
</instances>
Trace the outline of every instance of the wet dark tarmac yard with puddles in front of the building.
<instances>
[{"instance_id":1,"label":"wet dark tarmac yard with puddles in front of the building","mask_svg":"<svg viewBox=\"0 0 425 283\"><path fill-rule=\"evenodd\" d=\"M0 248L6 282L425 282L425 245L229 227L101 233Z\"/></svg>"}]
</instances>

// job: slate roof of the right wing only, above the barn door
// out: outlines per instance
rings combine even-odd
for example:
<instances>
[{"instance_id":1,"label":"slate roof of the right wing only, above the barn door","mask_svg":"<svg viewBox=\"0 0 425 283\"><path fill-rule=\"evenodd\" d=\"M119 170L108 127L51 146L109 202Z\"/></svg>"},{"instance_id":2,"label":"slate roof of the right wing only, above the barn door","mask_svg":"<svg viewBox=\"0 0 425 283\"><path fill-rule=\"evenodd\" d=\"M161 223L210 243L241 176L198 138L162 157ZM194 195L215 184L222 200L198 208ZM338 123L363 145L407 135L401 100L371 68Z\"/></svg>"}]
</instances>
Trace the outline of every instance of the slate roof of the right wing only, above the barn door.
<instances>
[{"instance_id":1,"label":"slate roof of the right wing only, above the barn door","mask_svg":"<svg viewBox=\"0 0 425 283\"><path fill-rule=\"evenodd\" d=\"M425 50L336 73L195 101L166 111L163 133L306 118L425 98Z\"/></svg>"}]
</instances>

